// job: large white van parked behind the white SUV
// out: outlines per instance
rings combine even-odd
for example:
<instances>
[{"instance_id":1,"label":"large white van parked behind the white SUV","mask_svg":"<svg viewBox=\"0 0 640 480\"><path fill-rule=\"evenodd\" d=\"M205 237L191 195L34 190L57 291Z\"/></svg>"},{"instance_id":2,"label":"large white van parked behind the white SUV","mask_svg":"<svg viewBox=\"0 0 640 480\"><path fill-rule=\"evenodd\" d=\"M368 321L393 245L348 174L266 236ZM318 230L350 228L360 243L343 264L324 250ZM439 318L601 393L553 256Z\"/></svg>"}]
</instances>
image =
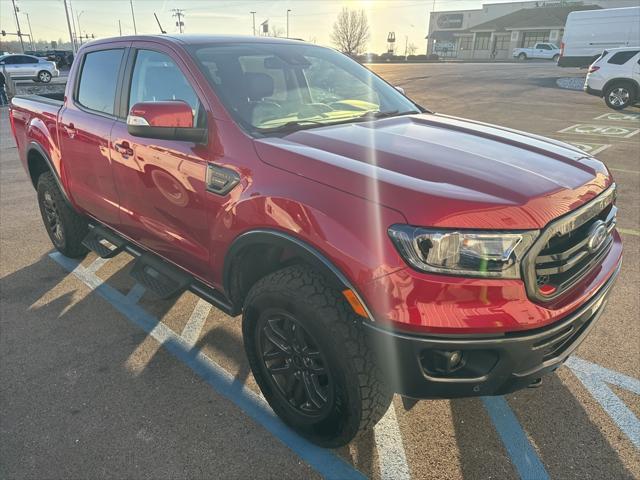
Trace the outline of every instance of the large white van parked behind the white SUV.
<instances>
[{"instance_id":1,"label":"large white van parked behind the white SUV","mask_svg":"<svg viewBox=\"0 0 640 480\"><path fill-rule=\"evenodd\" d=\"M571 12L567 17L560 67L591 65L605 49L640 45L640 7Z\"/></svg>"}]
</instances>

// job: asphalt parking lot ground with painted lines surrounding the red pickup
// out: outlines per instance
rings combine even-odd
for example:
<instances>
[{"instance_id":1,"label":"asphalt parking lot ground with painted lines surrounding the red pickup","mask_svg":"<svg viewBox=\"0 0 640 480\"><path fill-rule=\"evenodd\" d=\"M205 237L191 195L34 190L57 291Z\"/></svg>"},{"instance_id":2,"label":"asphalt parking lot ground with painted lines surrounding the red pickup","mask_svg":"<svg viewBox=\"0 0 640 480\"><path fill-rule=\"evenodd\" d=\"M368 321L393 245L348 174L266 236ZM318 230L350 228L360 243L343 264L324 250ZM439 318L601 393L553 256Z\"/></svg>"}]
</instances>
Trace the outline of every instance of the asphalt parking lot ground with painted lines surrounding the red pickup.
<instances>
[{"instance_id":1,"label":"asphalt parking lot ground with painted lines surrounding the red pickup","mask_svg":"<svg viewBox=\"0 0 640 480\"><path fill-rule=\"evenodd\" d=\"M0 124L0 478L640 478L640 108L557 88L547 63L386 64L437 112L580 144L619 185L625 261L606 312L540 388L504 398L399 397L336 451L274 419L240 322L191 294L158 300L130 257L56 254Z\"/></svg>"}]
</instances>

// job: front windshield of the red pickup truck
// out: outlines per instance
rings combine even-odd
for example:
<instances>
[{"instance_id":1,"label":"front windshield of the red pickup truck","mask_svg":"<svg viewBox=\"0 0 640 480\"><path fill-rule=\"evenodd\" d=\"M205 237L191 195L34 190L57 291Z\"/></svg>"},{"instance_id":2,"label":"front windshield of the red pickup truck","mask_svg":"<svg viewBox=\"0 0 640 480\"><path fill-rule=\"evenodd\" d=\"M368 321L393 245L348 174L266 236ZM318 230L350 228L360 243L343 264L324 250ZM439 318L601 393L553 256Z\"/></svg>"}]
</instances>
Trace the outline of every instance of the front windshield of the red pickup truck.
<instances>
[{"instance_id":1,"label":"front windshield of the red pickup truck","mask_svg":"<svg viewBox=\"0 0 640 480\"><path fill-rule=\"evenodd\" d=\"M304 44L194 45L216 94L251 133L418 113L420 108L334 50Z\"/></svg>"}]
</instances>

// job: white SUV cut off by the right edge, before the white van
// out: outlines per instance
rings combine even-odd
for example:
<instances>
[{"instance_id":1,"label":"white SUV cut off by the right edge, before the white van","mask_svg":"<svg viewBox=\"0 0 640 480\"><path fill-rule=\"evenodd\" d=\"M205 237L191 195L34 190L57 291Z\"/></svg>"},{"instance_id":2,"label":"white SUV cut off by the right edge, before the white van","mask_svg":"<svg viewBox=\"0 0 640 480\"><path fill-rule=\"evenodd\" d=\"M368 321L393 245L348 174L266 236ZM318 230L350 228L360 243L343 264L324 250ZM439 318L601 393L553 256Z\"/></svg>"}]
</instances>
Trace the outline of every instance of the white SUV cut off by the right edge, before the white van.
<instances>
[{"instance_id":1,"label":"white SUV cut off by the right edge, before the white van","mask_svg":"<svg viewBox=\"0 0 640 480\"><path fill-rule=\"evenodd\" d=\"M640 100L640 47L612 48L589 67L584 91L604 97L614 110Z\"/></svg>"}]
</instances>

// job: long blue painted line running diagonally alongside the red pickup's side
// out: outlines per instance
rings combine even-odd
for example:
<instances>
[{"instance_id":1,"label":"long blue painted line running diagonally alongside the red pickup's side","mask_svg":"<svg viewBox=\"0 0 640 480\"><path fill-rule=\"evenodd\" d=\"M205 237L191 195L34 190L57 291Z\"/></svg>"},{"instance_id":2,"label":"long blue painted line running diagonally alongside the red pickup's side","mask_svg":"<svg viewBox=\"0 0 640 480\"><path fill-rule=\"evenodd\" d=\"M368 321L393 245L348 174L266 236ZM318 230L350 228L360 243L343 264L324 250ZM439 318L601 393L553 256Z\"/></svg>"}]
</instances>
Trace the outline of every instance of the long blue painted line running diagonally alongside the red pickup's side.
<instances>
[{"instance_id":1,"label":"long blue painted line running diagonally alongside the red pickup's side","mask_svg":"<svg viewBox=\"0 0 640 480\"><path fill-rule=\"evenodd\" d=\"M164 326L139 305L127 301L124 295L103 283L100 278L87 271L77 261L64 257L58 252L51 253L49 256L65 270L72 272L79 280L148 334ZM296 434L275 416L264 400L248 390L243 384L235 382L235 378L229 372L202 352L191 349L179 335L168 327L161 330L166 337L166 340L162 343L167 351L188 365L217 393L231 400L249 417L271 432L272 435L299 455L302 460L324 478L336 480L366 479L361 472L333 451L320 448Z\"/></svg>"}]
</instances>

